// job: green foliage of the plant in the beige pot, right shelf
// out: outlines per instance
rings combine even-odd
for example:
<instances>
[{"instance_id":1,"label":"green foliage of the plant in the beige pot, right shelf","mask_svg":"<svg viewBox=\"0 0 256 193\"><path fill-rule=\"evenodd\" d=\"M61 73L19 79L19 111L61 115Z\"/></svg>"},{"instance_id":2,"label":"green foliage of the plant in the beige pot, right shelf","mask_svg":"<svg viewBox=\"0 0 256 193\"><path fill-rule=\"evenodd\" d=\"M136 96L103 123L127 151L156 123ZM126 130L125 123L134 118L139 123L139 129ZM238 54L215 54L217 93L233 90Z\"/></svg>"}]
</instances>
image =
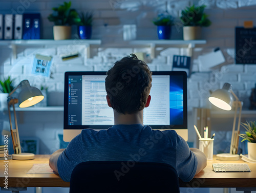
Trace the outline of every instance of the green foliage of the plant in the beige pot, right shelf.
<instances>
[{"instance_id":1,"label":"green foliage of the plant in the beige pot, right shelf","mask_svg":"<svg viewBox=\"0 0 256 193\"><path fill-rule=\"evenodd\" d=\"M208 15L204 13L204 8L206 6L191 6L186 7L185 10L181 12L181 22L184 26L201 26L208 27L211 25L210 20L207 18Z\"/></svg>"}]
</instances>

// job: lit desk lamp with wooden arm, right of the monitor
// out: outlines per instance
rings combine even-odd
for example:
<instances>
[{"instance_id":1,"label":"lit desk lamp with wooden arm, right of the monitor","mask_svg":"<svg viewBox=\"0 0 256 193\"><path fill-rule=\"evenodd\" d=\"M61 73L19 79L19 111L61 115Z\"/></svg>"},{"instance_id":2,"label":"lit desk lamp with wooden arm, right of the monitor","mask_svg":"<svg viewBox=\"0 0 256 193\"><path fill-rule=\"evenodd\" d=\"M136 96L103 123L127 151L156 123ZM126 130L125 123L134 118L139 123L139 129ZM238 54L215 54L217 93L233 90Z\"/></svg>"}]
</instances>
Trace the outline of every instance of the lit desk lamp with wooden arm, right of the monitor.
<instances>
[{"instance_id":1,"label":"lit desk lamp with wooden arm, right of the monitor","mask_svg":"<svg viewBox=\"0 0 256 193\"><path fill-rule=\"evenodd\" d=\"M236 99L233 101L233 97ZM233 129L232 129L232 137L230 144L229 154L217 154L217 159L219 160L238 160L239 155L238 152L238 143L239 143L239 130L240 130L240 122L241 122L241 111L243 103L238 99L238 97L233 93L232 86L229 83L225 83L222 89L218 89L214 91L209 97L209 101L217 106L220 109L230 111L232 109L232 104L234 104L234 120L233 120ZM236 130L236 122L237 122L237 111L239 108L239 116L238 116L238 126Z\"/></svg>"}]
</instances>

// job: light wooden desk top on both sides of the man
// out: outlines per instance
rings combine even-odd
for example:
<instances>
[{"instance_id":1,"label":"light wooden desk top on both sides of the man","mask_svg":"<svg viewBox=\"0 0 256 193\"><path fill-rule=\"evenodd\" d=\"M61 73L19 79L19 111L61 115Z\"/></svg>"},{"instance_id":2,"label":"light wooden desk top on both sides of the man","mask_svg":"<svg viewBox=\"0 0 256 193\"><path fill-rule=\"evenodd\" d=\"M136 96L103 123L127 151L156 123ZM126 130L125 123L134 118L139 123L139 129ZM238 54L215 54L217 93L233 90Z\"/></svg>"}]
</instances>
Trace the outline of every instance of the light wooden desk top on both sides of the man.
<instances>
[{"instance_id":1,"label":"light wooden desk top on both sides of the man","mask_svg":"<svg viewBox=\"0 0 256 193\"><path fill-rule=\"evenodd\" d=\"M34 163L49 163L49 155L36 155L34 160L8 160L8 187L69 187L57 174L26 174ZM3 184L4 160L0 160L0 180ZM250 173L215 173L212 163L247 163ZM180 187L256 187L256 164L239 161L207 161L207 166L190 182L180 181Z\"/></svg>"}]
</instances>

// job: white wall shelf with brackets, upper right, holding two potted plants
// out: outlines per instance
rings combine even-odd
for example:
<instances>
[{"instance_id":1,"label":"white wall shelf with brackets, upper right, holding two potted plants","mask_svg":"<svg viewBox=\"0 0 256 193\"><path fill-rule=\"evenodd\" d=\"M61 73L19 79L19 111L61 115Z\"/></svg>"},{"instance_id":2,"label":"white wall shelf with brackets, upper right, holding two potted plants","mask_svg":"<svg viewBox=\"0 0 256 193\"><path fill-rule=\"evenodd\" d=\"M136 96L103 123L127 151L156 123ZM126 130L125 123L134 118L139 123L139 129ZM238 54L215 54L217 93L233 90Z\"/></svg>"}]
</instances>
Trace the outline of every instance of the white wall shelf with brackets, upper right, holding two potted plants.
<instances>
[{"instance_id":1,"label":"white wall shelf with brackets, upper right, holding two potted plants","mask_svg":"<svg viewBox=\"0 0 256 193\"><path fill-rule=\"evenodd\" d=\"M156 45L168 45L172 47L187 47L188 56L192 56L192 49L195 48L197 44L206 44L206 40L183 40L183 39L152 39L152 40L133 40L130 41L130 45L145 45L151 48L151 57L155 57L155 47Z\"/></svg>"}]
</instances>

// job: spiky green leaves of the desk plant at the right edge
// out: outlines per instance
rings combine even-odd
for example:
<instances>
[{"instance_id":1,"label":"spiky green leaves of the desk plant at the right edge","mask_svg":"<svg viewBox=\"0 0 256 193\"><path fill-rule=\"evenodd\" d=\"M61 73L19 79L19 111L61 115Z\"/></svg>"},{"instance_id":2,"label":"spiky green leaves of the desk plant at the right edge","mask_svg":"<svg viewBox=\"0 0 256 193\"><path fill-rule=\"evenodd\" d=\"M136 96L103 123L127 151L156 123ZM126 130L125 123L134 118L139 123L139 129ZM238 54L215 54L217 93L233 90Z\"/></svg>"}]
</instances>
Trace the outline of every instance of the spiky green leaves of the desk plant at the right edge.
<instances>
[{"instance_id":1,"label":"spiky green leaves of the desk plant at the right edge","mask_svg":"<svg viewBox=\"0 0 256 193\"><path fill-rule=\"evenodd\" d=\"M256 143L255 121L246 121L246 123L241 123L241 125L246 129L245 134L239 134L240 137L244 138L241 142L248 140L249 142Z\"/></svg>"}]
</instances>

